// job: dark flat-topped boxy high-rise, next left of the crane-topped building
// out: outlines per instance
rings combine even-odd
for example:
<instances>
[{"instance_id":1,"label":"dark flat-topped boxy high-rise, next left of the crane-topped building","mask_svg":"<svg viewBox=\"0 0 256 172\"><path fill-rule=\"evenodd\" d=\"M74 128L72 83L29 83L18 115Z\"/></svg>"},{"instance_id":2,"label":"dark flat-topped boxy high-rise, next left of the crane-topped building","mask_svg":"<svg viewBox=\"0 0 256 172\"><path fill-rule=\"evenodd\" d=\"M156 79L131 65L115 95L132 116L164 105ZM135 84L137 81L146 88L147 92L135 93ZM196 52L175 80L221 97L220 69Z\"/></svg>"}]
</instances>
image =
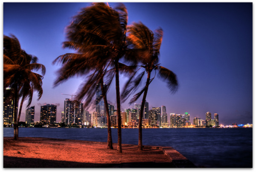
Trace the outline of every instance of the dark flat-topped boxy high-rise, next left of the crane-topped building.
<instances>
[{"instance_id":1,"label":"dark flat-topped boxy high-rise, next left of the crane-topped building","mask_svg":"<svg viewBox=\"0 0 256 172\"><path fill-rule=\"evenodd\" d=\"M41 106L40 110L40 122L44 125L56 123L57 106L47 104Z\"/></svg>"}]
</instances>

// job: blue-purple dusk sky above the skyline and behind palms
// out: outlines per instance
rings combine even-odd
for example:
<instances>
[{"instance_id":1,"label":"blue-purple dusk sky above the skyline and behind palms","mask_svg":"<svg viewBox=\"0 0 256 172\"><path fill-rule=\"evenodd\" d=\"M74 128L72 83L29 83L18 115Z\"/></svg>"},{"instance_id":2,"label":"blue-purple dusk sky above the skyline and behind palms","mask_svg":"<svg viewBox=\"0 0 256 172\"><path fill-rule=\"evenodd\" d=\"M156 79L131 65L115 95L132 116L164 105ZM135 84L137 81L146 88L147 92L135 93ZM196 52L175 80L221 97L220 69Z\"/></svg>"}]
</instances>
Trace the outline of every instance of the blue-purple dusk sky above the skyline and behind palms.
<instances>
[{"instance_id":1,"label":"blue-purple dusk sky above the skyline and behind palms","mask_svg":"<svg viewBox=\"0 0 256 172\"><path fill-rule=\"evenodd\" d=\"M14 34L21 48L46 66L44 94L34 95L35 121L40 106L57 105L57 122L64 100L76 93L83 77L75 77L53 88L60 66L52 61L61 54L64 28L82 7L90 3L3 3L3 34ZM115 7L116 3L109 3ZM205 113L219 114L220 124L253 122L252 3L125 3L128 24L143 22L154 31L164 31L160 63L178 78L179 89L170 94L166 84L155 78L149 86L149 108L166 106L170 113L190 114L205 120ZM120 88L127 78L120 77ZM141 99L136 103L140 103ZM112 83L108 100L115 105ZM131 105L133 106L133 105ZM128 101L121 109L131 107ZM25 120L23 106L20 121ZM89 109L93 111L94 109Z\"/></svg>"}]
</instances>

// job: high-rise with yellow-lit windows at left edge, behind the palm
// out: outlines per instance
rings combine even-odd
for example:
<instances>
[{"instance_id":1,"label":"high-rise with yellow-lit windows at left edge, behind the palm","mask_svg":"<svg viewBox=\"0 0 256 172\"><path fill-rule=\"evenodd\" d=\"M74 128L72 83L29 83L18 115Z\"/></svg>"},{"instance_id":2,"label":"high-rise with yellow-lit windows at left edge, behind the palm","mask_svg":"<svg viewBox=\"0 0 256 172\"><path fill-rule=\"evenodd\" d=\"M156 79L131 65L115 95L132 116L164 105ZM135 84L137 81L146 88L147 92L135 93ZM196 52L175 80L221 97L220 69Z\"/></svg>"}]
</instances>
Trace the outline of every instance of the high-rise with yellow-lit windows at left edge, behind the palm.
<instances>
[{"instance_id":1,"label":"high-rise with yellow-lit windows at left edge, behind the palm","mask_svg":"<svg viewBox=\"0 0 256 172\"><path fill-rule=\"evenodd\" d=\"M11 99L13 91L11 88L6 88L3 90L3 123L9 124L14 123L14 100ZM19 104L17 102L17 104ZM16 114L18 115L18 106L16 107Z\"/></svg>"}]
</instances>

